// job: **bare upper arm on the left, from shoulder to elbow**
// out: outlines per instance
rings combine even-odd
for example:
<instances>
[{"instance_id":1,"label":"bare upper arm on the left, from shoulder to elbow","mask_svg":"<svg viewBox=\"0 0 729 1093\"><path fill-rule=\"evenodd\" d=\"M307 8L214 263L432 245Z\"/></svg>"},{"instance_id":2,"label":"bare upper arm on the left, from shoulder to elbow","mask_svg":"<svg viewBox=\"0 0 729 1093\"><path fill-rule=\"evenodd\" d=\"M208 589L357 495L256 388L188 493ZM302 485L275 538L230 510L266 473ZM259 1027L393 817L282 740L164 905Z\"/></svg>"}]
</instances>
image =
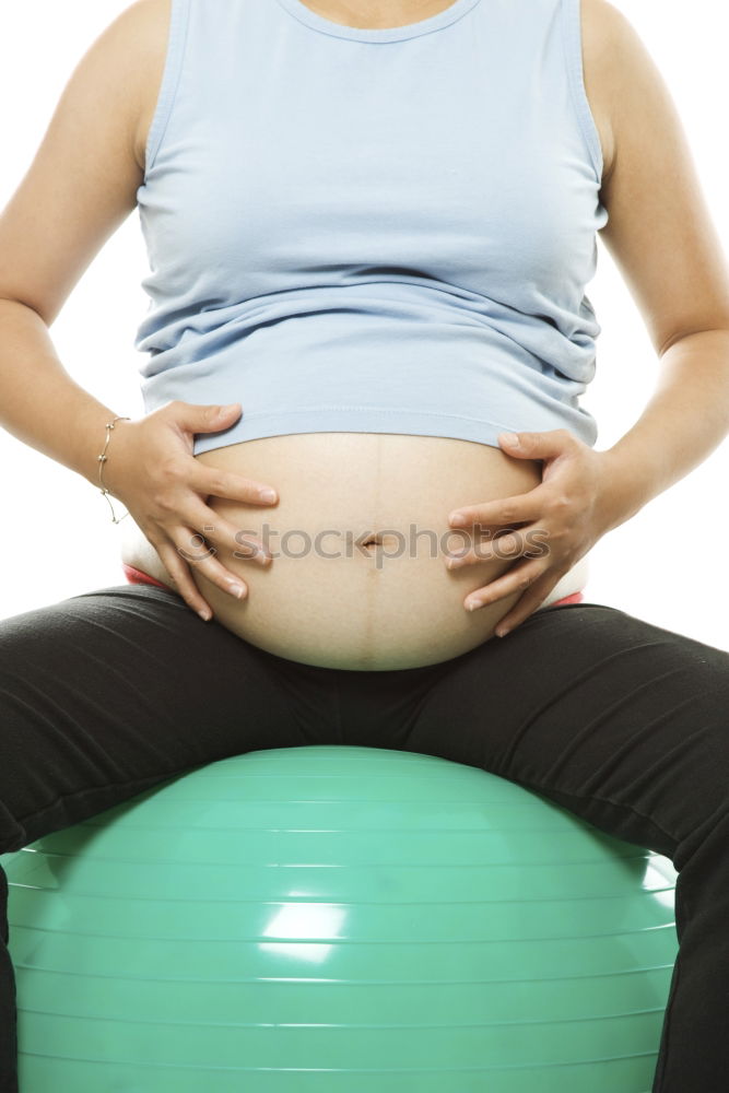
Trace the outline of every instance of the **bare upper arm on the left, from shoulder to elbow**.
<instances>
[{"instance_id":1,"label":"bare upper arm on the left, from shoulder to elbow","mask_svg":"<svg viewBox=\"0 0 729 1093\"><path fill-rule=\"evenodd\" d=\"M171 0L133 0L85 47L0 211L0 296L27 304L49 325L137 207L169 12ZM17 48L30 52L33 43Z\"/></svg>"}]
</instances>

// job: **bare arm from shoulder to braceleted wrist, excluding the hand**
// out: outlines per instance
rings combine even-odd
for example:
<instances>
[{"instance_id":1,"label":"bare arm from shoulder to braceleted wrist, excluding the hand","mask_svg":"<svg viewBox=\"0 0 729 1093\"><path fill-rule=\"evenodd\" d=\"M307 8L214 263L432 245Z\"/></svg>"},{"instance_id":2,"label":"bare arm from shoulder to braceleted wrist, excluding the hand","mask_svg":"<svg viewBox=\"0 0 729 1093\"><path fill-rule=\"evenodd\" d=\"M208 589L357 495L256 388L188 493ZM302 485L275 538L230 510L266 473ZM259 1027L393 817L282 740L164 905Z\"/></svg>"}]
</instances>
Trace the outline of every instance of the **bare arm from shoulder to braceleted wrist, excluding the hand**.
<instances>
[{"instance_id":1,"label":"bare arm from shoulder to braceleted wrist, excluding the hand","mask_svg":"<svg viewBox=\"0 0 729 1093\"><path fill-rule=\"evenodd\" d=\"M150 33L161 3L137 0L92 43L0 214L0 424L94 484L104 424L119 411L69 376L49 327L137 205L140 70L162 77Z\"/></svg>"}]
</instances>

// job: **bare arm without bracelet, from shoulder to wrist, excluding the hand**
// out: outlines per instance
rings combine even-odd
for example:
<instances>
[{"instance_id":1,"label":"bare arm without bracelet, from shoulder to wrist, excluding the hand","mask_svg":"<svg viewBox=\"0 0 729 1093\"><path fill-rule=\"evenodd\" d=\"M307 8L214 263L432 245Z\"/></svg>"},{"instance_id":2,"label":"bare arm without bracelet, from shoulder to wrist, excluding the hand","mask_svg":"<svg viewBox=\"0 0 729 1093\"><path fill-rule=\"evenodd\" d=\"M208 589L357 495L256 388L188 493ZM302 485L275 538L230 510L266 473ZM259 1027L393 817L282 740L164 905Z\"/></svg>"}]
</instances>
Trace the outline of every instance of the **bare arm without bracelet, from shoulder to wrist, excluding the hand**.
<instances>
[{"instance_id":1,"label":"bare arm without bracelet, from shoulder to wrist, excluding the hand","mask_svg":"<svg viewBox=\"0 0 729 1093\"><path fill-rule=\"evenodd\" d=\"M661 362L656 392L605 455L612 527L702 462L729 433L729 270L678 110L650 54L608 0L592 5L614 157L600 233Z\"/></svg>"}]
</instances>

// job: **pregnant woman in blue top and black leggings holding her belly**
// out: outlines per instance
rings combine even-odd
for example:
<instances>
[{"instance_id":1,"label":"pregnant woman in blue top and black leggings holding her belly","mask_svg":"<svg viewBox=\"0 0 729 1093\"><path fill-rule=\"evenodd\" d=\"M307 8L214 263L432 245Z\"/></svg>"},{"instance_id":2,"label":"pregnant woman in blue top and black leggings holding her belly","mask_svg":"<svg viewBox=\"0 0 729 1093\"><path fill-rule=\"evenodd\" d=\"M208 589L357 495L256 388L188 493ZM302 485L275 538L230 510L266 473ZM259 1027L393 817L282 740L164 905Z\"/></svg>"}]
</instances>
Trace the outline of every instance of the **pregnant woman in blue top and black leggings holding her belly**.
<instances>
[{"instance_id":1,"label":"pregnant woman in blue top and black leggings holding her belly","mask_svg":"<svg viewBox=\"0 0 729 1093\"><path fill-rule=\"evenodd\" d=\"M48 328L134 209L130 420ZM603 451L597 232L661 363ZM584 593L595 543L729 432L729 273L627 20L137 0L2 212L0 297L0 421L130 517L126 583L0 622L0 853L255 749L480 766L671 857L652 1089L725 1089L729 654Z\"/></svg>"}]
</instances>

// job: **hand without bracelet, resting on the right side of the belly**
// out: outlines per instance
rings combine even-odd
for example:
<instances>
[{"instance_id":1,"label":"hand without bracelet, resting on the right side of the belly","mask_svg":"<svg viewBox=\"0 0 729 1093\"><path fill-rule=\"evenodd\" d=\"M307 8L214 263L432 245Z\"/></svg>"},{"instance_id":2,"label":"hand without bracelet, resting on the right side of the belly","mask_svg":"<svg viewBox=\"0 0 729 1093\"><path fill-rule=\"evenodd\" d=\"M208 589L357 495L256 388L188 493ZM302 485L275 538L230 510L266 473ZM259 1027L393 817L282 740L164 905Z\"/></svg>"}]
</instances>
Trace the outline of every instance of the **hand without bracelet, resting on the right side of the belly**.
<instances>
[{"instance_id":1,"label":"hand without bracelet, resting on the right side of the belly","mask_svg":"<svg viewBox=\"0 0 729 1093\"><path fill-rule=\"evenodd\" d=\"M502 577L469 592L463 602L468 610L473 610L525 589L524 596L499 620L495 631L498 637L536 611L564 574L620 522L613 519L615 485L607 458L609 453L595 451L566 428L517 433L518 446L507 442L509 435L515 434L498 436L503 451L517 459L543 461L540 484L528 493L460 507L450 514L448 521L452 528L478 525L512 529L514 525L524 525L492 540L491 546L481 542L474 550L447 555L450 569L495 557L525 559ZM498 544L496 551L494 543Z\"/></svg>"}]
</instances>

